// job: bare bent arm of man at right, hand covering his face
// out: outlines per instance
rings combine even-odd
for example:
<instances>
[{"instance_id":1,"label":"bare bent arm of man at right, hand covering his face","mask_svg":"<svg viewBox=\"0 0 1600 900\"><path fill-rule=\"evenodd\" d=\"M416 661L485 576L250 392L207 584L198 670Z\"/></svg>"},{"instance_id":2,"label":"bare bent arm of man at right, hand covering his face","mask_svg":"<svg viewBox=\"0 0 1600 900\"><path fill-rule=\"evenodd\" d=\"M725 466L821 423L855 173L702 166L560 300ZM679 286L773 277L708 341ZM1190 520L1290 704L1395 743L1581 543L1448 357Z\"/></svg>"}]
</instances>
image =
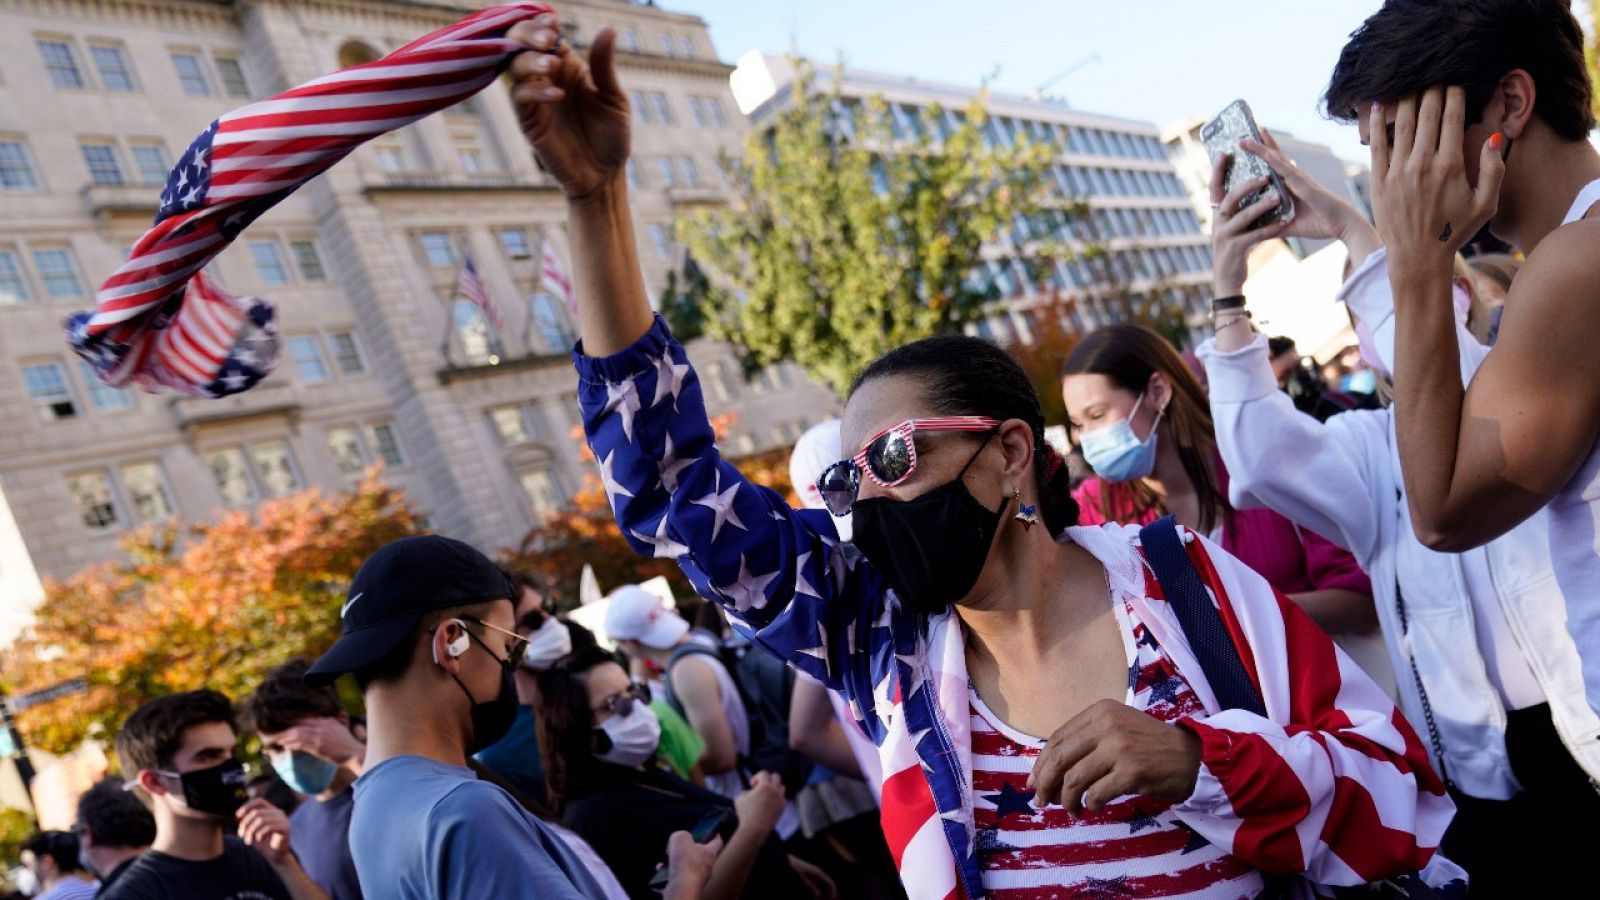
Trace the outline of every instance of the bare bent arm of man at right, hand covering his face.
<instances>
[{"instance_id":1,"label":"bare bent arm of man at right, hand covering his face","mask_svg":"<svg viewBox=\"0 0 1600 900\"><path fill-rule=\"evenodd\" d=\"M1450 303L1456 250L1488 221L1506 173L1504 136L1466 176L1461 88L1400 101L1394 147L1374 104L1373 205L1395 295L1400 466L1418 538L1480 546L1555 496L1600 434L1600 223L1546 237L1512 282L1506 320L1470 388L1454 365ZM1394 165L1390 165L1390 162Z\"/></svg>"}]
</instances>

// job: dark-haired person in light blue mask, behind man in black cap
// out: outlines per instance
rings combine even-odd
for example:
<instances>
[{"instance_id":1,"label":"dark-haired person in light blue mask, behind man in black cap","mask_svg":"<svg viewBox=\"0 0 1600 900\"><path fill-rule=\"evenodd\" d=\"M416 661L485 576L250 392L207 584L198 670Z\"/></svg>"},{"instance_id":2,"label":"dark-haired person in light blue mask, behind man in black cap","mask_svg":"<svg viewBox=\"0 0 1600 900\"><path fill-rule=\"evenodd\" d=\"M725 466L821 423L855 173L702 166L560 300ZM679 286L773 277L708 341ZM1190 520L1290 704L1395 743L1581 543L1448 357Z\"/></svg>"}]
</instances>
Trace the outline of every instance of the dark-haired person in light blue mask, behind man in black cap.
<instances>
[{"instance_id":1,"label":"dark-haired person in light blue mask, behind man in black cap","mask_svg":"<svg viewBox=\"0 0 1600 900\"><path fill-rule=\"evenodd\" d=\"M267 673L245 701L243 719L261 738L272 772L306 798L290 815L291 844L306 874L333 900L360 900L350 812L366 746L350 733L339 692L306 682L309 668L307 660L290 660Z\"/></svg>"}]
</instances>

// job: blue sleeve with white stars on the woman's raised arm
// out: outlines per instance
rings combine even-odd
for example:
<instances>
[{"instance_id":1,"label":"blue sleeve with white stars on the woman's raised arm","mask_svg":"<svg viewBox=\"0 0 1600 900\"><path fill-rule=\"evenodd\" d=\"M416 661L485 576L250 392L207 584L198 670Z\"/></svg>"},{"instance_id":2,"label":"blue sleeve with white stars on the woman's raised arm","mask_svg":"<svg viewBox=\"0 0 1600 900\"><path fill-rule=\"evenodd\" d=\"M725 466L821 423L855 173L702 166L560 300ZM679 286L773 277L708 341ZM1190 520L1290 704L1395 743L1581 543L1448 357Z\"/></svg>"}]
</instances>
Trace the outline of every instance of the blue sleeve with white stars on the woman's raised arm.
<instances>
[{"instance_id":1,"label":"blue sleeve with white stars on the woman's raised arm","mask_svg":"<svg viewBox=\"0 0 1600 900\"><path fill-rule=\"evenodd\" d=\"M723 461L699 378L666 323L658 317L618 354L586 357L579 346L573 359L589 447L629 544L675 559L778 657L867 697L872 657L890 658L886 641L872 639L886 626L882 578L846 557L827 512L790 509Z\"/></svg>"}]
</instances>

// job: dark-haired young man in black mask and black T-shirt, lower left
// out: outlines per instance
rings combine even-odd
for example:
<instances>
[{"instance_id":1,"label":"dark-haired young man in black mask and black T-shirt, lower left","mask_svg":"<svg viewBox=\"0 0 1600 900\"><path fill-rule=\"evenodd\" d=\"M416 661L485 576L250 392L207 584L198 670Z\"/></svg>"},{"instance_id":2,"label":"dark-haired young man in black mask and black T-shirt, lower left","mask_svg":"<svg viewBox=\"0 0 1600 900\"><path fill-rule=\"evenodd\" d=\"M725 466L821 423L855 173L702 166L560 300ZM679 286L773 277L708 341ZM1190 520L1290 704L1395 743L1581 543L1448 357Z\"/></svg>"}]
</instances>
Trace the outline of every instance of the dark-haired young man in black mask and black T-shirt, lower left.
<instances>
[{"instance_id":1,"label":"dark-haired young man in black mask and black T-shirt, lower left","mask_svg":"<svg viewBox=\"0 0 1600 900\"><path fill-rule=\"evenodd\" d=\"M325 900L306 874L283 812L248 799L235 756L234 705L214 690L157 697L117 732L122 770L149 798L155 841L104 897L109 900ZM230 834L237 823L238 836Z\"/></svg>"}]
</instances>

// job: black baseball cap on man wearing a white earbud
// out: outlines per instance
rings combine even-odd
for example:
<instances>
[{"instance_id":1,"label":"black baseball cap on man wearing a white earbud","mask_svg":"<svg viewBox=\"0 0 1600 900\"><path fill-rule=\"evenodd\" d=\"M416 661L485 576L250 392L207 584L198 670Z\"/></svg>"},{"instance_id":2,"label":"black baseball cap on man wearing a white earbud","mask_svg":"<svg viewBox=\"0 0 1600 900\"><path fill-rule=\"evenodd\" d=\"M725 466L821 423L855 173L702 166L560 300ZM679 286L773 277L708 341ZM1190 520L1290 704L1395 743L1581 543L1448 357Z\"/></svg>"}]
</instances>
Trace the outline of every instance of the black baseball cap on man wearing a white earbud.
<instances>
[{"instance_id":1,"label":"black baseball cap on man wearing a white earbud","mask_svg":"<svg viewBox=\"0 0 1600 900\"><path fill-rule=\"evenodd\" d=\"M339 610L344 634L306 669L306 684L331 684L378 663L426 612L514 596L506 573L470 544L438 535L390 541L357 570Z\"/></svg>"}]
</instances>

